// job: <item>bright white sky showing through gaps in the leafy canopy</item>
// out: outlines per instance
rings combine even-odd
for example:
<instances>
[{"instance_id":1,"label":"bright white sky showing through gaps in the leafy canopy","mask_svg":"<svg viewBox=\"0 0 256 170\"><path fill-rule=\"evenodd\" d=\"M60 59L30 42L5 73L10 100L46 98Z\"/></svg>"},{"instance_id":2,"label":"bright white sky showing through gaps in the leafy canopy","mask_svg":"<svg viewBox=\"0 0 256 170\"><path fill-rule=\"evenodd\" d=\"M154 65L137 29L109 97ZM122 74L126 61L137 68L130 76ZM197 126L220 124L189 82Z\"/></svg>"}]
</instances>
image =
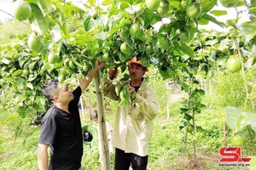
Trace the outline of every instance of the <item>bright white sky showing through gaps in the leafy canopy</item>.
<instances>
[{"instance_id":1,"label":"bright white sky showing through gaps in the leafy canopy","mask_svg":"<svg viewBox=\"0 0 256 170\"><path fill-rule=\"evenodd\" d=\"M2 23L7 21L8 19L12 18L12 16L9 15L9 14L12 14L12 6L13 6L12 3L13 3L12 0L0 0L0 20ZM226 20L235 19L235 17L236 17L236 9L235 8L224 8L223 6L218 5L218 6L215 6L213 9L227 10L227 12L228 12L227 15L217 17L217 20L219 20L219 21L226 22ZM5 14L1 10L3 10L4 12L6 12L8 14ZM245 10L245 8L238 8L238 10ZM246 14L243 14L240 21L245 21L245 20L248 20L248 18L247 18ZM210 24L207 26L200 26L200 27L204 28L204 29L213 29L213 30L218 30L218 31L223 30L222 27L220 27L212 22L210 22Z\"/></svg>"}]
</instances>

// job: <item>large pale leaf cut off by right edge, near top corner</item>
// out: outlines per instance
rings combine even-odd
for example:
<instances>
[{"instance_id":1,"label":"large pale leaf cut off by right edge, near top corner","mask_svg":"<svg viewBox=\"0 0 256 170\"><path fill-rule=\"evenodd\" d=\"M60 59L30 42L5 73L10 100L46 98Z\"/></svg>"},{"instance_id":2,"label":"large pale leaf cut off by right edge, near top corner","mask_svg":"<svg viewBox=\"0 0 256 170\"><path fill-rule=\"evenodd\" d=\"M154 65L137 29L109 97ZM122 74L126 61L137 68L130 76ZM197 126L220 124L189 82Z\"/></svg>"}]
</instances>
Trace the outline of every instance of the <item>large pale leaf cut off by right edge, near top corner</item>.
<instances>
[{"instance_id":1,"label":"large pale leaf cut off by right edge, near top corner","mask_svg":"<svg viewBox=\"0 0 256 170\"><path fill-rule=\"evenodd\" d=\"M245 39L245 42L249 42L256 35L256 20L250 20L243 22L241 26L237 26L241 31L242 37Z\"/></svg>"}]
</instances>

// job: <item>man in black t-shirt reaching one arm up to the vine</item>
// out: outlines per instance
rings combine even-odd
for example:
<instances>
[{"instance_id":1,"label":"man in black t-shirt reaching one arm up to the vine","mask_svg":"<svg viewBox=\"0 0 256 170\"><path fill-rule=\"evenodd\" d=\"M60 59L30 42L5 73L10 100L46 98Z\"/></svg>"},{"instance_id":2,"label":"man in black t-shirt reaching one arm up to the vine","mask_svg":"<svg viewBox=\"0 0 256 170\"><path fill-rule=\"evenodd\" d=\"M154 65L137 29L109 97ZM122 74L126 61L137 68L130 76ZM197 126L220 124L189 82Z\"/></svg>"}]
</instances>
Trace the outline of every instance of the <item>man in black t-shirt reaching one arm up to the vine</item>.
<instances>
[{"instance_id":1,"label":"man in black t-shirt reaching one arm up to the vine","mask_svg":"<svg viewBox=\"0 0 256 170\"><path fill-rule=\"evenodd\" d=\"M96 60L96 67L88 72L74 91L57 80L50 80L43 87L43 94L53 106L42 119L38 144L40 170L79 170L83 156L83 137L79 117L79 97L88 87L103 62ZM51 149L48 162L48 147Z\"/></svg>"}]
</instances>

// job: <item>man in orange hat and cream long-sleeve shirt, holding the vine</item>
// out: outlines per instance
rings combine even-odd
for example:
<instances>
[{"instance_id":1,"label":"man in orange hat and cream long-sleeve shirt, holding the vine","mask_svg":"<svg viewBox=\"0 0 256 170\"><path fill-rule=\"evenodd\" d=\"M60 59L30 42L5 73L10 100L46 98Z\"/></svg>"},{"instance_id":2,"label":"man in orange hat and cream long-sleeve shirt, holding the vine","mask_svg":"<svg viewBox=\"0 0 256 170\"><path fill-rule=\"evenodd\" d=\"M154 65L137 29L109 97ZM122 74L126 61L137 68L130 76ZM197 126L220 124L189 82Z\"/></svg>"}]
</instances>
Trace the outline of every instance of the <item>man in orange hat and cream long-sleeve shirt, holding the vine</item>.
<instances>
[{"instance_id":1,"label":"man in orange hat and cream long-sleeve shirt, holding the vine","mask_svg":"<svg viewBox=\"0 0 256 170\"><path fill-rule=\"evenodd\" d=\"M149 140L153 133L153 119L159 111L154 89L143 77L148 71L137 57L128 62L131 80L113 82L117 75L114 68L102 81L101 88L105 96L120 102L117 86L130 85L130 103L119 105L113 126L113 147L115 150L115 170L146 170L148 164Z\"/></svg>"}]
</instances>

